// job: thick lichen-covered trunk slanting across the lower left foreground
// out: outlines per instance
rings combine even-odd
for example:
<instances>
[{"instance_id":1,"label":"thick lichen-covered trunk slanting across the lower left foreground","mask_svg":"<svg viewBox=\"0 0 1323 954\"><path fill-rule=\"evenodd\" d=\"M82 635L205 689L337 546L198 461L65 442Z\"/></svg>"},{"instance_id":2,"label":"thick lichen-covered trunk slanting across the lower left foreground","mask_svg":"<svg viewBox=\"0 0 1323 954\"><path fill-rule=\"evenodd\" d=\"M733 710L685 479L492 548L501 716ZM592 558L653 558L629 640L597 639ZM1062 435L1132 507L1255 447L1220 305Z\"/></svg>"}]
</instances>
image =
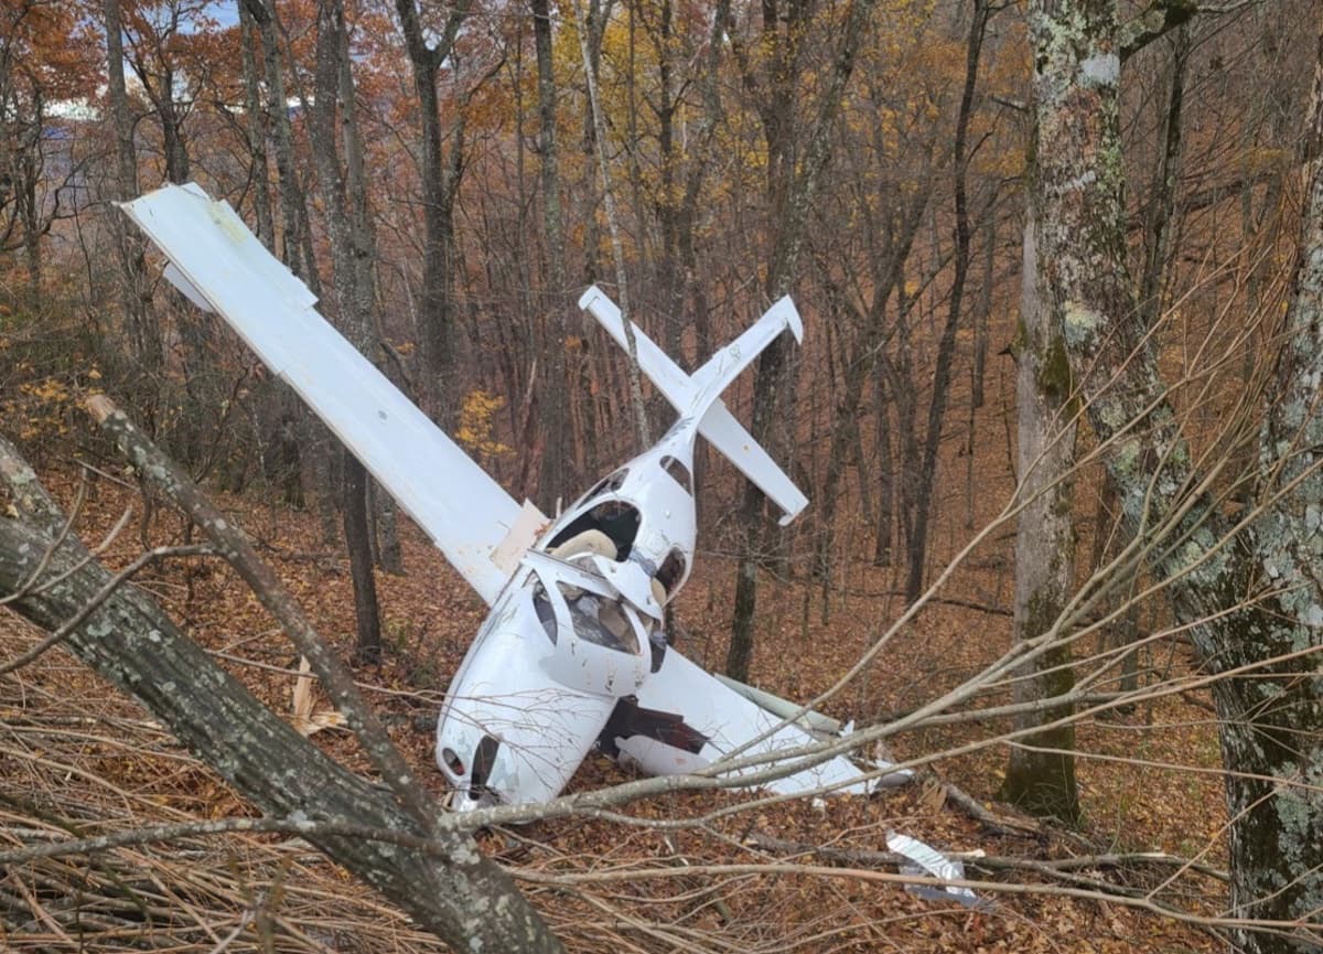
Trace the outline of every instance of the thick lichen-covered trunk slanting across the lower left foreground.
<instances>
[{"instance_id":1,"label":"thick lichen-covered trunk slanting across the lower left foreground","mask_svg":"<svg viewBox=\"0 0 1323 954\"><path fill-rule=\"evenodd\" d=\"M0 441L0 459L7 456L0 474L15 476L13 496L20 499L21 492L24 512L34 520L0 517L0 594L15 591L30 578L62 523L30 468ZM60 582L42 580L9 609L48 631L57 630L112 577L87 556L70 535L53 548L49 560L49 574ZM79 564L77 572L69 572ZM115 589L70 631L65 644L95 672L134 695L180 742L269 815L331 824L352 819L368 828L435 840L441 857L377 839L308 836L316 848L451 946L561 950L511 877L484 859L471 838L452 830L429 831L394 798L333 762L185 638L140 590ZM474 916L493 908L500 916Z\"/></svg>"}]
</instances>

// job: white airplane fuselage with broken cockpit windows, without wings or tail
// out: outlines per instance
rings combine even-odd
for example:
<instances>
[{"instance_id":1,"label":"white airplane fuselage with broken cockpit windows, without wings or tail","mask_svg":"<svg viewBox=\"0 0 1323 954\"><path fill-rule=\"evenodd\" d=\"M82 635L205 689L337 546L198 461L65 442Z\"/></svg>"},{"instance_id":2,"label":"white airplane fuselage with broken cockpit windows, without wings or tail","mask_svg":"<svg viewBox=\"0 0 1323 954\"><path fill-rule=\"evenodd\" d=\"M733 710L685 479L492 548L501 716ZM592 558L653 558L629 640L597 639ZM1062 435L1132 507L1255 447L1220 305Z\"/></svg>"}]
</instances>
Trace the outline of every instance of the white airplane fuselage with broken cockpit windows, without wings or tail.
<instances>
[{"instance_id":1,"label":"white airplane fuselage with broken cockpit windows, without wings or tail","mask_svg":"<svg viewBox=\"0 0 1323 954\"><path fill-rule=\"evenodd\" d=\"M441 709L437 763L455 808L554 798L656 671L663 606L693 561L695 434L679 422L520 560Z\"/></svg>"}]
</instances>

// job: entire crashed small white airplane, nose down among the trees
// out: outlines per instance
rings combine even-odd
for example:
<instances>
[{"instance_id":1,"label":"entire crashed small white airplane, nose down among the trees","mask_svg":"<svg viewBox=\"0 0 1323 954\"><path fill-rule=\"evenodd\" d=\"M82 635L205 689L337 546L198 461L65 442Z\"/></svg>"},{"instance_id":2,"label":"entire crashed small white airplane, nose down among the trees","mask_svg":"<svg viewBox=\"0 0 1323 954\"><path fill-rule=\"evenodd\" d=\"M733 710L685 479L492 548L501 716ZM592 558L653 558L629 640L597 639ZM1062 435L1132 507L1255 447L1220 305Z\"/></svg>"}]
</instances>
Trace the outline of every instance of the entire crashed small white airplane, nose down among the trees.
<instances>
[{"instance_id":1,"label":"entire crashed small white airplane, nose down among the trees","mask_svg":"<svg viewBox=\"0 0 1323 954\"><path fill-rule=\"evenodd\" d=\"M662 626L693 564L699 435L766 492L783 524L807 504L721 402L778 335L803 336L789 298L693 376L635 327L639 367L679 419L549 519L517 504L343 339L226 202L189 184L122 208L169 259L165 278L299 393L491 607L437 726L454 808L554 798L594 746L651 774L720 771L733 753L767 758L728 770L738 775L815 741L816 726L785 717L796 707L774 715L753 701L766 697L667 646ZM579 306L624 343L620 312L598 288ZM781 794L864 793L878 774L884 783L909 775L886 767L865 773L833 757L762 785Z\"/></svg>"}]
</instances>

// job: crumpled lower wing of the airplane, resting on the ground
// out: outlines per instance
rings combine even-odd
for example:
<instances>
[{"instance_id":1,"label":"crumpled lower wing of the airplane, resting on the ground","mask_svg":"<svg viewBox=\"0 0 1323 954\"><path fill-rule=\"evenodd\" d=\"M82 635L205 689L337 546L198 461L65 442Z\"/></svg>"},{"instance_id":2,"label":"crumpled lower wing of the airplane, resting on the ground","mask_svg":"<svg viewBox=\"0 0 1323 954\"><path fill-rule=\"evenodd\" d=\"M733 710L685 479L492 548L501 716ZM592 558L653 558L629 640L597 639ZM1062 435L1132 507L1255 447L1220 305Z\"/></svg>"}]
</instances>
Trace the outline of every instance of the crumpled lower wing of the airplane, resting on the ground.
<instances>
[{"instance_id":1,"label":"crumpled lower wing of the airplane, resting on the ground","mask_svg":"<svg viewBox=\"0 0 1323 954\"><path fill-rule=\"evenodd\" d=\"M706 767L785 721L685 659L675 647L667 648L662 668L639 687L638 701L632 705L634 711L618 711L603 734L611 736L606 741L614 749L654 775L684 774ZM795 724L782 725L736 757L785 752L790 759L794 756L789 753L799 753L816 741ZM603 746L606 750L611 748ZM759 765L740 774L765 767L767 765ZM798 795L823 787L867 794L877 785L902 785L909 781L910 773L896 771L880 782L864 779L863 775L864 769L837 756L765 782L762 787L781 795Z\"/></svg>"}]
</instances>

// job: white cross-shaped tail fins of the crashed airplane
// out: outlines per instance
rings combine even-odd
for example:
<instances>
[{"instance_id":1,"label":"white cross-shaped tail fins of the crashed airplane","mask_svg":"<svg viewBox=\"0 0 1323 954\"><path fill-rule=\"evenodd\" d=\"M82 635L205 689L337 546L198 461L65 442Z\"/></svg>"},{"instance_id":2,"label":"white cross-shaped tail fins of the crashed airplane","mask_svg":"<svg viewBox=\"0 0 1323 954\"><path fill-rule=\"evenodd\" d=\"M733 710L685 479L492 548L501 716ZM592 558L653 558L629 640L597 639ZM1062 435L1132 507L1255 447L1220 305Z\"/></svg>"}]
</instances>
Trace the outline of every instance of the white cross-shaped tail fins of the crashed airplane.
<instances>
[{"instance_id":1,"label":"white cross-shaped tail fins of the crashed airplane","mask_svg":"<svg viewBox=\"0 0 1323 954\"><path fill-rule=\"evenodd\" d=\"M591 312L607 333L623 348L624 323L620 310L595 284L579 298L579 307ZM753 480L785 516L789 524L808 504L798 487L736 421L721 402L721 392L749 367L763 348L789 329L795 340L803 340L804 327L790 298L783 298L758 319L740 337L718 351L693 377L672 361L652 340L634 325L634 343L639 355L639 369L656 385L658 390L683 415L700 418L699 433L708 439L740 471Z\"/></svg>"}]
</instances>

